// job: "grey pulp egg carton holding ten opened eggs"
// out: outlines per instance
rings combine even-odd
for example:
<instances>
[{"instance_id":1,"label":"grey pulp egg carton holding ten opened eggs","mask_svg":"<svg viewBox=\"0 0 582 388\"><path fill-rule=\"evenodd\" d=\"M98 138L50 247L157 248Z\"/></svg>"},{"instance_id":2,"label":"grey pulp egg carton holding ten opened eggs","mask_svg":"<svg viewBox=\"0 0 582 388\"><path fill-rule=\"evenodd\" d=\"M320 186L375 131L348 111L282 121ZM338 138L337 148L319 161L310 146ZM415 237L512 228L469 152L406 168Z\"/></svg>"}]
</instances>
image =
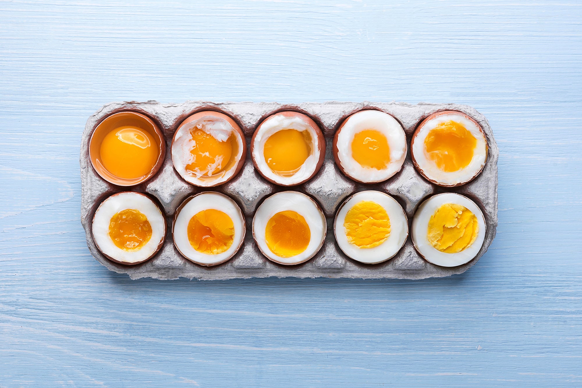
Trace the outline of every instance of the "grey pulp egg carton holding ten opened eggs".
<instances>
[{"instance_id":1,"label":"grey pulp egg carton holding ten opened eggs","mask_svg":"<svg viewBox=\"0 0 582 388\"><path fill-rule=\"evenodd\" d=\"M333 163L332 138L339 124L354 112L364 109L381 110L393 115L406 132L409 146L403 168L394 177L381 184L358 184L346 178ZM162 130L166 140L166 157L158 174L143 184L130 188L109 184L95 172L89 158L89 140L95 126L102 119L115 112L132 110L151 117ZM258 124L269 115L279 111L299 111L307 114L320 125L326 139L325 163L317 175L303 185L294 188L276 186L265 181L253 167L249 151L244 167L230 182L216 188L197 188L183 181L173 168L169 146L173 133L180 122L194 112L212 110L233 117L243 129L247 144ZM466 185L457 188L442 188L425 181L414 169L410 157L410 139L420 122L434 112L442 110L461 111L473 117L485 131L489 143L487 163L480 175ZM250 147L249 147L250 149ZM91 254L109 270L126 273L132 279L152 277L176 279L179 277L201 280L221 280L253 277L329 277L329 278L407 278L421 279L460 274L473 266L487 251L495 237L497 227L497 160L499 150L487 119L467 105L405 103L210 103L188 101L183 104L161 104L157 101L145 103L111 103L102 107L88 120L81 140L81 224L85 229L87 245ZM296 190L313 197L327 217L327 236L320 252L306 263L285 266L271 262L257 249L252 237L251 224L257 206L275 192ZM392 259L379 264L362 264L350 258L339 249L333 235L333 217L338 206L354 192L377 190L389 193L402 204L409 221L414 211L428 196L441 192L457 192L473 199L485 216L487 232L478 255L467 264L458 267L440 267L426 262L414 249L410 233L406 244ZM105 258L95 246L91 234L91 221L97 206L116 192L136 191L148 193L157 198L165 211L168 234L164 246L145 263L133 266L118 264ZM202 192L218 191L232 197L240 205L246 217L246 237L239 252L228 262L218 266L205 267L183 258L173 245L171 225L174 211L186 197Z\"/></svg>"}]
</instances>

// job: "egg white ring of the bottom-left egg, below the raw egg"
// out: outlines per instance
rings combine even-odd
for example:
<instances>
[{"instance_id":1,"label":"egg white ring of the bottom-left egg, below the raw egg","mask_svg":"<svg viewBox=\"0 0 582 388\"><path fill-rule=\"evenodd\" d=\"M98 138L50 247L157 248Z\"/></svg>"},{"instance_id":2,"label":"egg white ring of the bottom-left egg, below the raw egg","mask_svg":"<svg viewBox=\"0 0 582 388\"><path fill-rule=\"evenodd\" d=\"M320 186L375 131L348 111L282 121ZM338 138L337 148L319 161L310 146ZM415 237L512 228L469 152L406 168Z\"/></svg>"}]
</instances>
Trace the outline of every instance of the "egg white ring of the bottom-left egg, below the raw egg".
<instances>
[{"instance_id":1,"label":"egg white ring of the bottom-left egg, below the raw egg","mask_svg":"<svg viewBox=\"0 0 582 388\"><path fill-rule=\"evenodd\" d=\"M151 238L137 251L125 251L118 248L109 237L111 217L125 209L136 209L147 217L151 225ZM140 263L150 258L158 250L159 243L164 239L166 220L157 204L145 195L134 192L123 192L112 195L104 200L93 217L93 239L101 252L120 263Z\"/></svg>"}]
</instances>

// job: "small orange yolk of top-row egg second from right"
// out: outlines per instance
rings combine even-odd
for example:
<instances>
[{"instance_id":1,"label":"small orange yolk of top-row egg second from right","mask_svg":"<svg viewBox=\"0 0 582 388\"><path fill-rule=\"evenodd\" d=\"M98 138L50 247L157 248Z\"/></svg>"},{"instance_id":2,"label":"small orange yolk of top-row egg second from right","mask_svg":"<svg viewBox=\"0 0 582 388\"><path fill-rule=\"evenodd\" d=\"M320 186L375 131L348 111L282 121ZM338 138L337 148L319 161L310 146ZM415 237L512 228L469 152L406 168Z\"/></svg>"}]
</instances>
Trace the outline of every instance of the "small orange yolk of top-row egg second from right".
<instances>
[{"instance_id":1,"label":"small orange yolk of top-row egg second from right","mask_svg":"<svg viewBox=\"0 0 582 388\"><path fill-rule=\"evenodd\" d=\"M352 140L352 157L362 167L384 170L390 163L388 139L375 129L358 132Z\"/></svg>"}]
</instances>

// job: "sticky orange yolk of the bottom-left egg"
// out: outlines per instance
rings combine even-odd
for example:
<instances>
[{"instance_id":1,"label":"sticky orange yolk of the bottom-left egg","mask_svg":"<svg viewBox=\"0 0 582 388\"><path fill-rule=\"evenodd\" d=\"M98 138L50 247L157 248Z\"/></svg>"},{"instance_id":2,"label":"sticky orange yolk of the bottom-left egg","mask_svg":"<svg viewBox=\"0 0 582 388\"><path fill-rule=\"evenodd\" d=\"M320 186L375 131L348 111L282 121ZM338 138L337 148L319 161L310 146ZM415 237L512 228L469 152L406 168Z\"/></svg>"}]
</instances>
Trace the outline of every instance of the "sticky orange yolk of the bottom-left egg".
<instances>
[{"instance_id":1,"label":"sticky orange yolk of the bottom-left egg","mask_svg":"<svg viewBox=\"0 0 582 388\"><path fill-rule=\"evenodd\" d=\"M137 251L150 241L150 221L136 209L119 211L109 221L109 237L118 248Z\"/></svg>"}]
</instances>

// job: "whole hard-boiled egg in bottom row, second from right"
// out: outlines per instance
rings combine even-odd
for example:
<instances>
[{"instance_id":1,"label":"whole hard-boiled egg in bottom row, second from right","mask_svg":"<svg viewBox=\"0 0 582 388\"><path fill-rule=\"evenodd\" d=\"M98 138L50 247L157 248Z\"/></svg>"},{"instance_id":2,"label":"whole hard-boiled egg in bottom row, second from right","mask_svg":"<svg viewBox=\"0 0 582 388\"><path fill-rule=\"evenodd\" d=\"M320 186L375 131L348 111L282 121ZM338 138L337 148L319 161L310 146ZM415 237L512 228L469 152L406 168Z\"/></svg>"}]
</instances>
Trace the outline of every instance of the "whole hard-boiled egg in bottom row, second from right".
<instances>
[{"instance_id":1,"label":"whole hard-boiled egg in bottom row, second from right","mask_svg":"<svg viewBox=\"0 0 582 388\"><path fill-rule=\"evenodd\" d=\"M408 221L402 206L388 194L361 191L340 206L333 231L343 253L375 264L400 251L408 237Z\"/></svg>"}]
</instances>

